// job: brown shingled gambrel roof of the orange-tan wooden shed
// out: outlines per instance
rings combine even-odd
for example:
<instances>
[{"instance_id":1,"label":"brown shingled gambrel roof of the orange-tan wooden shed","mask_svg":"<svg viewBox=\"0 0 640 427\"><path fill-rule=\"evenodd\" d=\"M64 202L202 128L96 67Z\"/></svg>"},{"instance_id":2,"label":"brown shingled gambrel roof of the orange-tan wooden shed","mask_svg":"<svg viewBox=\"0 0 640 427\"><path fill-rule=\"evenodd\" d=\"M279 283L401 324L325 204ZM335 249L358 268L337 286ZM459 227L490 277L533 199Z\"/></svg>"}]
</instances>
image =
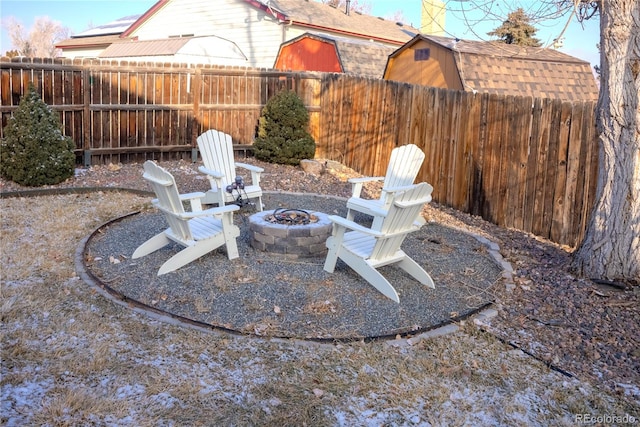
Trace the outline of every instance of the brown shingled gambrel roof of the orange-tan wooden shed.
<instances>
[{"instance_id":1,"label":"brown shingled gambrel roof of the orange-tan wooden shed","mask_svg":"<svg viewBox=\"0 0 640 427\"><path fill-rule=\"evenodd\" d=\"M420 40L434 43L453 54L467 91L567 101L598 98L591 65L553 49L418 35L390 57Z\"/></svg>"}]
</instances>

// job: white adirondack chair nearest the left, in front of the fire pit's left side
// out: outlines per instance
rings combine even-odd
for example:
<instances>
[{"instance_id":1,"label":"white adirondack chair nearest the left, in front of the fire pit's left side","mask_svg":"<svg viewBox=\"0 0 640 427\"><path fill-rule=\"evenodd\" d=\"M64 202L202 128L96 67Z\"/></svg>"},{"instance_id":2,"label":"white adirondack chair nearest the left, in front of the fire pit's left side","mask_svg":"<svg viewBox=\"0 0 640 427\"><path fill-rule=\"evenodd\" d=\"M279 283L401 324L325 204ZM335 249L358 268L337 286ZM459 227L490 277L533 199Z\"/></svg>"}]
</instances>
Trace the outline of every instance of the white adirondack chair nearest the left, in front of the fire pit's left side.
<instances>
[{"instance_id":1,"label":"white adirondack chair nearest the left, in front of the fire pit's left side","mask_svg":"<svg viewBox=\"0 0 640 427\"><path fill-rule=\"evenodd\" d=\"M238 206L202 210L200 200L204 193L181 195L173 176L164 168L150 160L143 167L143 178L151 184L157 196L152 203L164 212L169 228L140 245L132 258L148 255L172 241L185 246L162 264L158 276L175 271L222 245L226 246L229 259L238 258L236 237L240 235L240 229L233 224L233 211L240 209ZM187 201L191 202L191 212L185 211L182 204Z\"/></svg>"}]
</instances>

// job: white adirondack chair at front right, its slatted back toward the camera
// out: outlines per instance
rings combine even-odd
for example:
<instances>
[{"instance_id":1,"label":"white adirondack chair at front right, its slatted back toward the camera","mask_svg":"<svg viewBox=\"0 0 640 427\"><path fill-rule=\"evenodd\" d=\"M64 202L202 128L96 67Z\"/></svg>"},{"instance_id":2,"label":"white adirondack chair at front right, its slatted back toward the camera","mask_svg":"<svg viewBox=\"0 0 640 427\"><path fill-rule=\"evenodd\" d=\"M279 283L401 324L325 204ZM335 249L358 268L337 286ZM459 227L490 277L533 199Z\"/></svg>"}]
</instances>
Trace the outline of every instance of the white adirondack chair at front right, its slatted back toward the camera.
<instances>
[{"instance_id":1,"label":"white adirondack chair at front right, its slatted back toward the camera","mask_svg":"<svg viewBox=\"0 0 640 427\"><path fill-rule=\"evenodd\" d=\"M407 234L418 230L424 223L416 219L421 215L424 204L431 200L432 191L433 187L423 182L389 194L389 210L382 216L379 230L363 227L339 216L329 216L333 222L333 233L327 239L329 252L324 263L325 271L333 273L340 258L383 295L397 303L400 302L398 293L377 268L397 264L423 285L435 288L431 276L400 248Z\"/></svg>"}]
</instances>

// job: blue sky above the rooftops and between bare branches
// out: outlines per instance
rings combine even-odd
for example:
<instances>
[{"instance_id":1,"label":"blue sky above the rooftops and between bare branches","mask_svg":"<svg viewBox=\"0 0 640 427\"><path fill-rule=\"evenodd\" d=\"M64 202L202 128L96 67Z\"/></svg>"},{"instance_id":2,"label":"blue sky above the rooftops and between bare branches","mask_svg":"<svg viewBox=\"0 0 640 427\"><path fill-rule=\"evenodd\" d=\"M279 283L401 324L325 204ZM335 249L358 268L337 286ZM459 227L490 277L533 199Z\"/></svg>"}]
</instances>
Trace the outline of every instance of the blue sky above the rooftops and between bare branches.
<instances>
[{"instance_id":1,"label":"blue sky above the rooftops and between bare branches","mask_svg":"<svg viewBox=\"0 0 640 427\"><path fill-rule=\"evenodd\" d=\"M421 0L362 0L365 4L371 4L371 14L385 18L392 17L396 12L401 12L408 24L420 26L420 14L422 11ZM27 28L31 28L34 18L48 16L52 20L59 21L62 25L71 29L72 33L80 33L91 26L106 24L115 19L128 15L141 14L156 3L156 0L62 0L62 1L31 1L31 0L0 0L0 18L2 21L9 16L17 18ZM447 0L447 3L455 9L471 9L473 1ZM489 0L476 0L476 4L489 3ZM494 2L499 5L508 2ZM540 4L540 1L521 0L511 2L522 6L525 10ZM495 6L499 7L499 6ZM502 14L498 9L492 10L495 14ZM470 29L467 22L473 23ZM567 17L561 19L536 23L538 29L536 37L545 45L556 38L567 22ZM462 12L450 11L447 13L445 30L450 37L478 40L488 39L487 32L500 26L501 20L488 19L476 10ZM589 61L591 65L599 62L597 43L599 42L599 22L591 20L584 23L584 28L575 19L571 20L564 34L564 46L562 52ZM2 28L0 38L0 53L11 49L11 40Z\"/></svg>"}]
</instances>

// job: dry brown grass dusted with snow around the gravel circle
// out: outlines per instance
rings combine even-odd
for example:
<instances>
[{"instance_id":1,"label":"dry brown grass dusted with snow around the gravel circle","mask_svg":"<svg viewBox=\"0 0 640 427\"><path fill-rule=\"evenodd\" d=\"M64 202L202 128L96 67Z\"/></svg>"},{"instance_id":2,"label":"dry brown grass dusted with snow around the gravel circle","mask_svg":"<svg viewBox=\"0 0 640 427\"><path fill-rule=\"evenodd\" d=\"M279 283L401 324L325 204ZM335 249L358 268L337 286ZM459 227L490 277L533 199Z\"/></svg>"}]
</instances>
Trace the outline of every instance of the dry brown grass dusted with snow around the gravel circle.
<instances>
[{"instance_id":1,"label":"dry brown grass dusted with snow around the gravel circle","mask_svg":"<svg viewBox=\"0 0 640 427\"><path fill-rule=\"evenodd\" d=\"M137 314L80 280L73 257L95 227L147 202L112 193L0 200L3 424L573 425L578 413L637 410L471 322L413 346L320 345Z\"/></svg>"}]
</instances>

